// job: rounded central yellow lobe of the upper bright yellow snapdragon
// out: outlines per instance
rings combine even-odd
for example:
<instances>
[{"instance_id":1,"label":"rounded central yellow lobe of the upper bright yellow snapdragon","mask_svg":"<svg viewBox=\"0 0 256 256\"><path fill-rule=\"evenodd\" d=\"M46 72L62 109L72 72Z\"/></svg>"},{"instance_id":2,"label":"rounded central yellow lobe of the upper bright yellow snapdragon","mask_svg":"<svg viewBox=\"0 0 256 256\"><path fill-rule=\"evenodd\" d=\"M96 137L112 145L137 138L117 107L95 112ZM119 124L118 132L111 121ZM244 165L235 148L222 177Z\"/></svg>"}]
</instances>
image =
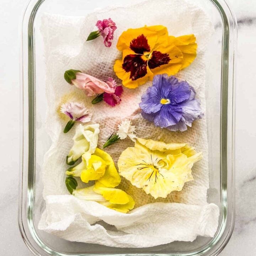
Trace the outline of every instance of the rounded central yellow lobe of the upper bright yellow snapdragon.
<instances>
[{"instance_id":1,"label":"rounded central yellow lobe of the upper bright yellow snapdragon","mask_svg":"<svg viewBox=\"0 0 256 256\"><path fill-rule=\"evenodd\" d=\"M106 163L105 161L96 155L86 155L87 168L81 173L82 182L88 183L92 180L98 180L105 174Z\"/></svg>"}]
</instances>

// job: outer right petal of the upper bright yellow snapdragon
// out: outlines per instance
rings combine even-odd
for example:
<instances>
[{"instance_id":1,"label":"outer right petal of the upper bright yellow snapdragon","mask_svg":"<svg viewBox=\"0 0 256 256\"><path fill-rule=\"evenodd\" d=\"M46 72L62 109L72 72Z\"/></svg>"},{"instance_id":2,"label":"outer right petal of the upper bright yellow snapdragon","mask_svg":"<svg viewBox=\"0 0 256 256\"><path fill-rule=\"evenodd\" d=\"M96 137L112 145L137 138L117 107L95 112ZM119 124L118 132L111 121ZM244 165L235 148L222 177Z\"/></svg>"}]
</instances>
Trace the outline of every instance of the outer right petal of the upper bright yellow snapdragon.
<instances>
[{"instance_id":1,"label":"outer right petal of the upper bright yellow snapdragon","mask_svg":"<svg viewBox=\"0 0 256 256\"><path fill-rule=\"evenodd\" d=\"M121 182L121 177L119 176L116 166L114 165L114 161L112 157L106 153L105 151L96 148L95 155L100 156L106 162L106 170L105 174L99 178L97 181L102 183L106 187L116 187ZM97 182L96 181L96 182Z\"/></svg>"}]
</instances>

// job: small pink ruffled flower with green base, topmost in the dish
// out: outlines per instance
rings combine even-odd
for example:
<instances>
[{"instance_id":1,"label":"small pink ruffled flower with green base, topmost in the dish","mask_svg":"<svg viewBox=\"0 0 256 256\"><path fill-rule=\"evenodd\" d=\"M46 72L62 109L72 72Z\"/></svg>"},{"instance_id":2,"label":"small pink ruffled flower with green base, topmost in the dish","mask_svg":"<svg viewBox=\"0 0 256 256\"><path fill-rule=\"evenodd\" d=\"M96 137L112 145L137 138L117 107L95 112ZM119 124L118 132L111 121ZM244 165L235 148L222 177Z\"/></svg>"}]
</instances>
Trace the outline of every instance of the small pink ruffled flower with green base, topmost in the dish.
<instances>
[{"instance_id":1,"label":"small pink ruffled flower with green base, topmost in the dish","mask_svg":"<svg viewBox=\"0 0 256 256\"><path fill-rule=\"evenodd\" d=\"M114 31L117 29L116 23L114 23L111 18L108 18L102 21L98 20L96 26L98 30L91 32L86 41L91 41L102 36L105 46L111 47L111 40L114 39Z\"/></svg>"}]
</instances>

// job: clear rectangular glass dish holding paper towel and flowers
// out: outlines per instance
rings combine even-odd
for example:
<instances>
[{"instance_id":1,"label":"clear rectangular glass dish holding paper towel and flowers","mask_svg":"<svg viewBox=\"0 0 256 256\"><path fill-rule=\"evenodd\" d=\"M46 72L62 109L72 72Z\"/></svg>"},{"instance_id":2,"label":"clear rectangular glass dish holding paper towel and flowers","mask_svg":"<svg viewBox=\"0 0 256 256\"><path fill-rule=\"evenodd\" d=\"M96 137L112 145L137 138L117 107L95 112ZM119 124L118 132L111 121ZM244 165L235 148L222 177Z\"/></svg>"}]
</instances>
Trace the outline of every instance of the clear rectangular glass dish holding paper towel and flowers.
<instances>
[{"instance_id":1,"label":"clear rectangular glass dish holding paper towel and flowers","mask_svg":"<svg viewBox=\"0 0 256 256\"><path fill-rule=\"evenodd\" d=\"M170 0L171 2L172 0ZM45 201L42 197L43 157L51 145L44 126L47 99L46 64L40 33L44 13L85 16L98 7L127 5L129 0L32 0L22 25L21 163L19 226L34 255L218 255L234 227L234 124L236 20L224 0L195 0L208 14L215 31L206 49L207 136L209 189L207 202L220 209L214 238L198 236L193 242L176 241L149 248L115 248L70 242L39 230Z\"/></svg>"}]
</instances>

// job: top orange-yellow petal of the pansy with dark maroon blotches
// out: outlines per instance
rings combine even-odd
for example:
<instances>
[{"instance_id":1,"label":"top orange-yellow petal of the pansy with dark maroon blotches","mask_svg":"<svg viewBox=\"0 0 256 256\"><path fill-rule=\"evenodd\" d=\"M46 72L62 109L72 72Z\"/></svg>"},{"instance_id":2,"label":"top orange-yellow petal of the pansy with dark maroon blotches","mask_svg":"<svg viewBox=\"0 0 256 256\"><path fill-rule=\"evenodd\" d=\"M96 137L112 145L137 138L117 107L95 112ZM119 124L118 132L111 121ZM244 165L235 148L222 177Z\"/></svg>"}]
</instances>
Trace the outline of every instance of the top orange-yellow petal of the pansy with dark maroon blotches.
<instances>
[{"instance_id":1,"label":"top orange-yellow petal of the pansy with dark maroon blotches","mask_svg":"<svg viewBox=\"0 0 256 256\"><path fill-rule=\"evenodd\" d=\"M148 40L150 50L152 50L160 36L168 36L167 28L164 26L145 26L142 28L129 28L127 31L124 31L118 39L117 49L125 50L130 49L130 43L133 39L137 38L140 35L144 35Z\"/></svg>"}]
</instances>

